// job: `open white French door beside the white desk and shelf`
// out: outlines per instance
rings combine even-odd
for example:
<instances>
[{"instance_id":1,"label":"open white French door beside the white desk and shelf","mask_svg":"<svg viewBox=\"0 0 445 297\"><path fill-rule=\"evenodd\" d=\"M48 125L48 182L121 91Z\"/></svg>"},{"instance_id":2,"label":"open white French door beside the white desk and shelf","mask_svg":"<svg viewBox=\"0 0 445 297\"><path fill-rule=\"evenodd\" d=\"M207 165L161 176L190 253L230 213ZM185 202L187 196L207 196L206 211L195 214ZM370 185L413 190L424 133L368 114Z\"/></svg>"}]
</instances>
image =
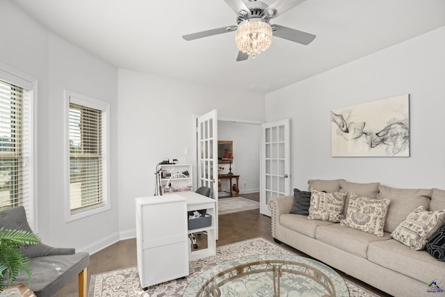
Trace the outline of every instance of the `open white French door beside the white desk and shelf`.
<instances>
[{"instance_id":1,"label":"open white French door beside the white desk and shelf","mask_svg":"<svg viewBox=\"0 0 445 297\"><path fill-rule=\"evenodd\" d=\"M218 239L218 113L215 110L197 118L197 188L212 189L215 205L215 234Z\"/></svg>"}]
</instances>

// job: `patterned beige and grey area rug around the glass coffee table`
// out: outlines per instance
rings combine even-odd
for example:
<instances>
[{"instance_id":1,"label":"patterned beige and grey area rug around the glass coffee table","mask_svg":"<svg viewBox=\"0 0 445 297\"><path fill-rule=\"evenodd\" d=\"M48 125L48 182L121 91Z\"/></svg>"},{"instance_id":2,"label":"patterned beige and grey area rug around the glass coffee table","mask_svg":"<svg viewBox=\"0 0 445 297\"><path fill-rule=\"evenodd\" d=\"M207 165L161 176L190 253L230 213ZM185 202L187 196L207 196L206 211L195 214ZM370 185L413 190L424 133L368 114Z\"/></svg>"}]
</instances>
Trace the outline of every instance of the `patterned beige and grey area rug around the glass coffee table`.
<instances>
[{"instance_id":1,"label":"patterned beige and grey area rug around the glass coffee table","mask_svg":"<svg viewBox=\"0 0 445 297\"><path fill-rule=\"evenodd\" d=\"M140 287L136 267L119 269L91 275L88 297L170 297L181 296L187 285L203 271L237 257L260 254L292 254L288 250L263 238L248 239L237 243L219 246L216 255L190 262L190 275L149 287ZM351 297L378 297L357 284L345 280Z\"/></svg>"}]
</instances>

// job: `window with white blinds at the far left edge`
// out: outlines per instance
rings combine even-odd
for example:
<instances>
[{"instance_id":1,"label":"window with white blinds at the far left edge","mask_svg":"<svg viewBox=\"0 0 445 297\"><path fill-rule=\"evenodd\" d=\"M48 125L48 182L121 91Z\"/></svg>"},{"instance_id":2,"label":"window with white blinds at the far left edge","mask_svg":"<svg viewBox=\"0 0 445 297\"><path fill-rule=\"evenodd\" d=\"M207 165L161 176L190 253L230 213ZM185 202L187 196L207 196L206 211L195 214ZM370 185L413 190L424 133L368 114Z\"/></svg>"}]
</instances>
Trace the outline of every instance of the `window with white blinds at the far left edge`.
<instances>
[{"instance_id":1,"label":"window with white blinds at the far left edge","mask_svg":"<svg viewBox=\"0 0 445 297\"><path fill-rule=\"evenodd\" d=\"M26 102L29 96L29 90L0 80L0 209L24 205L30 216L31 104Z\"/></svg>"}]
</instances>

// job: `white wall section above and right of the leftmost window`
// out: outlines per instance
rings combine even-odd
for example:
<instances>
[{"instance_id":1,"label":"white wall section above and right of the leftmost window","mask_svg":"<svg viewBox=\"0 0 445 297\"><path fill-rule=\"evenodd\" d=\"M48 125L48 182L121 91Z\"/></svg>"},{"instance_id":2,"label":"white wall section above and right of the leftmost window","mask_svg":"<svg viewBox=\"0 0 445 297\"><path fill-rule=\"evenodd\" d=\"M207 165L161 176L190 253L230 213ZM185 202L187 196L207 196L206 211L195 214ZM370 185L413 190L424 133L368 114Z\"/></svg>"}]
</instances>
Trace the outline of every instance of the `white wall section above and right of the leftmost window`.
<instances>
[{"instance_id":1,"label":"white wall section above and right of the leftmost window","mask_svg":"<svg viewBox=\"0 0 445 297\"><path fill-rule=\"evenodd\" d=\"M0 1L0 62L38 79L38 184L35 193L38 197L48 196L48 33L10 1ZM14 28L14 32L6 29ZM30 46L32 45L32 47ZM37 219L44 207L38 205ZM45 225L39 220L35 222L35 230L40 231L42 239L49 239L44 232Z\"/></svg>"}]
</instances>

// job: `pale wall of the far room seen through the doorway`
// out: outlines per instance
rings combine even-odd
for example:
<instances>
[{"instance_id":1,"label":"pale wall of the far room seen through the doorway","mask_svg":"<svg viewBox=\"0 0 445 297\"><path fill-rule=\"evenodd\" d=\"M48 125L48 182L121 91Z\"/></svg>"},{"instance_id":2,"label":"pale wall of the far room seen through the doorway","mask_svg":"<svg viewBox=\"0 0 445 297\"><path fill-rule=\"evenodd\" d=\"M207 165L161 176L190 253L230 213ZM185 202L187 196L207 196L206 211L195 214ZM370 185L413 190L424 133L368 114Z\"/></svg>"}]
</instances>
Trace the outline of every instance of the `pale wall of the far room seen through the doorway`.
<instances>
[{"instance_id":1,"label":"pale wall of the far room seen through the doorway","mask_svg":"<svg viewBox=\"0 0 445 297\"><path fill-rule=\"evenodd\" d=\"M259 192L259 138L261 125L242 122L218 122L218 140L233 141L234 161L232 172L240 175L238 188L240 193ZM229 164L218 164L225 168L222 173L229 172ZM234 180L232 180L234 184ZM229 192L229 180L221 180L223 191Z\"/></svg>"}]
</instances>

